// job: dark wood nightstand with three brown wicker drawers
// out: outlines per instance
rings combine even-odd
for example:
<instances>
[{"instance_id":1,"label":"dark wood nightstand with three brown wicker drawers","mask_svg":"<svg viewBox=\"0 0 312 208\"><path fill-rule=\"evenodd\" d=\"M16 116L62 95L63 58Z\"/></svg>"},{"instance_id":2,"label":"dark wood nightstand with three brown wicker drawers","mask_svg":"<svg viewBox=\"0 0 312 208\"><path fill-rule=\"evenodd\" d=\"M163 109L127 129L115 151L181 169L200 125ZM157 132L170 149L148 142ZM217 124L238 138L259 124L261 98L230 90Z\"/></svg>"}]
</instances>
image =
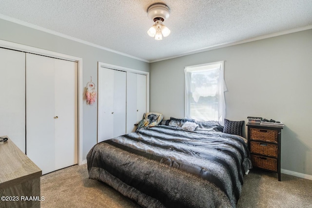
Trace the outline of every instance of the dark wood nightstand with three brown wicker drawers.
<instances>
[{"instance_id":1,"label":"dark wood nightstand with three brown wicker drawers","mask_svg":"<svg viewBox=\"0 0 312 208\"><path fill-rule=\"evenodd\" d=\"M281 130L282 126L265 126L247 123L248 148L254 168L277 172L281 181Z\"/></svg>"}]
</instances>

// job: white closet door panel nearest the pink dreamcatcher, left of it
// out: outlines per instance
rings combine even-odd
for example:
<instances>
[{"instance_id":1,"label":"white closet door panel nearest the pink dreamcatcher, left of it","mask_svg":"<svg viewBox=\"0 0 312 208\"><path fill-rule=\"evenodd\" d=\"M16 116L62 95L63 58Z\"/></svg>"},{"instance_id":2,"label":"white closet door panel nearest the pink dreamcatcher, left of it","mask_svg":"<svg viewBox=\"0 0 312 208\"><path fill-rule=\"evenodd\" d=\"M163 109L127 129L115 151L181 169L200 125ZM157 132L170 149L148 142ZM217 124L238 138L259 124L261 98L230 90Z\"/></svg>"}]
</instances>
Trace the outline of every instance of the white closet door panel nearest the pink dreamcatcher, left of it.
<instances>
[{"instance_id":1,"label":"white closet door panel nearest the pink dreamcatcher, left of it","mask_svg":"<svg viewBox=\"0 0 312 208\"><path fill-rule=\"evenodd\" d=\"M55 169L78 163L77 62L55 59Z\"/></svg>"}]
</instances>

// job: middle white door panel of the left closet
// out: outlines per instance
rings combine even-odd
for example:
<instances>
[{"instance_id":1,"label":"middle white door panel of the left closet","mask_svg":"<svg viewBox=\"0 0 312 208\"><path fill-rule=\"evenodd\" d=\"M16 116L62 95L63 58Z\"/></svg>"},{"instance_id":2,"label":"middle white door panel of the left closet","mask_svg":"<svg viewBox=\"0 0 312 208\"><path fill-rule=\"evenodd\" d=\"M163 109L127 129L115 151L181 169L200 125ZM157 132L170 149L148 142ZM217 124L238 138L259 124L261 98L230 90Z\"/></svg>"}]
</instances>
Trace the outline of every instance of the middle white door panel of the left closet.
<instances>
[{"instance_id":1,"label":"middle white door panel of the left closet","mask_svg":"<svg viewBox=\"0 0 312 208\"><path fill-rule=\"evenodd\" d=\"M26 154L42 170L55 170L54 59L26 54Z\"/></svg>"}]
</instances>

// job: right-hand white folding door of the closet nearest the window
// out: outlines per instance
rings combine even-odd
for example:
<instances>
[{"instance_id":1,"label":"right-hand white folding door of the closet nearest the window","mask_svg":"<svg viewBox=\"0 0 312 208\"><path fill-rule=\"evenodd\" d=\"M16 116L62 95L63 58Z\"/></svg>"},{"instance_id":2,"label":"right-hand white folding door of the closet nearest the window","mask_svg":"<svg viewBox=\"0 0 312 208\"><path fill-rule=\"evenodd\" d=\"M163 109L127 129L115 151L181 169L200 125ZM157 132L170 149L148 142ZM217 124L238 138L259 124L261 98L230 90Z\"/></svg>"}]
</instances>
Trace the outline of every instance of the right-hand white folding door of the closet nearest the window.
<instances>
[{"instance_id":1,"label":"right-hand white folding door of the closet nearest the window","mask_svg":"<svg viewBox=\"0 0 312 208\"><path fill-rule=\"evenodd\" d=\"M127 133L146 113L146 75L127 72Z\"/></svg>"}]
</instances>

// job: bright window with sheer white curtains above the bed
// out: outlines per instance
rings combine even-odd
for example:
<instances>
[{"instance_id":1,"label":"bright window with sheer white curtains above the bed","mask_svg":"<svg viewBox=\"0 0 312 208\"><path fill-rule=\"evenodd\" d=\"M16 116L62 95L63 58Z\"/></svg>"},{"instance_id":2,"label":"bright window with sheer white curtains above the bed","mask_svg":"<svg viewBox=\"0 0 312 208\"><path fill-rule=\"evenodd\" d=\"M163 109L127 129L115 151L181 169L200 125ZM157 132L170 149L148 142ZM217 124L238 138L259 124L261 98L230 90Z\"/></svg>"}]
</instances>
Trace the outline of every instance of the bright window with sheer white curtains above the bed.
<instances>
[{"instance_id":1,"label":"bright window with sheer white curtains above the bed","mask_svg":"<svg viewBox=\"0 0 312 208\"><path fill-rule=\"evenodd\" d=\"M215 120L225 118L223 61L185 67L185 117Z\"/></svg>"}]
</instances>

